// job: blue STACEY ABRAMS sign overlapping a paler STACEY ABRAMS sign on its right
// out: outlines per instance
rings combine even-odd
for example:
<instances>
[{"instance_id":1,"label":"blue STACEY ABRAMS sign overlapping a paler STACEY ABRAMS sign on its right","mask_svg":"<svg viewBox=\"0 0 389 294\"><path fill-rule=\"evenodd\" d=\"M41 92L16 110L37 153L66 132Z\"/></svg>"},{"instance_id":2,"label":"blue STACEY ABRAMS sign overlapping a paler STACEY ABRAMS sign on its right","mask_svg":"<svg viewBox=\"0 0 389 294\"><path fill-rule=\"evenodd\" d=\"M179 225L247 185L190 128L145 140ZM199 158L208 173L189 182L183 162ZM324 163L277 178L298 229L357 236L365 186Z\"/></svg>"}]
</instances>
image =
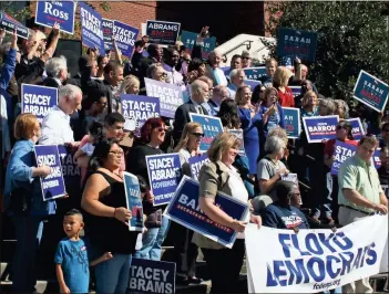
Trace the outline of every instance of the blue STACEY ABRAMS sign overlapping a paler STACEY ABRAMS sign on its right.
<instances>
[{"instance_id":1,"label":"blue STACEY ABRAMS sign overlapping a paler STACEY ABRAMS sign on its right","mask_svg":"<svg viewBox=\"0 0 389 294\"><path fill-rule=\"evenodd\" d=\"M160 99L141 95L121 94L122 115L125 119L136 122L140 129L151 117L160 117Z\"/></svg>"}]
</instances>

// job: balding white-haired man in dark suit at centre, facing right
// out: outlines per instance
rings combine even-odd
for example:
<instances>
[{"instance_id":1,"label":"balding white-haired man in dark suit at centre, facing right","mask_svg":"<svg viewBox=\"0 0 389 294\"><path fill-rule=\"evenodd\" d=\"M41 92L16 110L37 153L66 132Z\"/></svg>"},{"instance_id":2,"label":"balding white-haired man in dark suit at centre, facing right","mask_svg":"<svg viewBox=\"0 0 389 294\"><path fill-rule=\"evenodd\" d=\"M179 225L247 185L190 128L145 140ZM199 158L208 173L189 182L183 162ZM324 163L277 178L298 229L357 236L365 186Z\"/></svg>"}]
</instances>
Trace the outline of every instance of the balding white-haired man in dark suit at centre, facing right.
<instances>
[{"instance_id":1,"label":"balding white-haired man in dark suit at centre, facing right","mask_svg":"<svg viewBox=\"0 0 389 294\"><path fill-rule=\"evenodd\" d=\"M181 105L174 115L173 138L174 145L177 145L185 125L191 122L190 113L208 115L208 112L202 106L209 98L209 86L207 83L195 80L191 84L191 99Z\"/></svg>"}]
</instances>

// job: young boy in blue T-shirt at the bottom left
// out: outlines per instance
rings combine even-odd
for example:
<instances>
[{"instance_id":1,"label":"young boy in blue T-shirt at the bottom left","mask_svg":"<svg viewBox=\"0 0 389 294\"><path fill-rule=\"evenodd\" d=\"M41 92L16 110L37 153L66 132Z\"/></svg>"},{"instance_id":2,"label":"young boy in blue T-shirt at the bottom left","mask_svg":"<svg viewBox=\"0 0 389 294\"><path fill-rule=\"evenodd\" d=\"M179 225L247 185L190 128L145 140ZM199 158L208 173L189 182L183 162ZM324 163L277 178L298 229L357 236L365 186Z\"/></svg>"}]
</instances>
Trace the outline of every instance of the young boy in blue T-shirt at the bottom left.
<instances>
[{"instance_id":1,"label":"young boy in blue T-shirt at the bottom left","mask_svg":"<svg viewBox=\"0 0 389 294\"><path fill-rule=\"evenodd\" d=\"M55 273L60 284L60 293L88 293L89 266L112 259L111 252L89 262L84 241L80 231L84 228L79 210L72 209L63 218L63 230L68 238L60 241L55 252Z\"/></svg>"}]
</instances>

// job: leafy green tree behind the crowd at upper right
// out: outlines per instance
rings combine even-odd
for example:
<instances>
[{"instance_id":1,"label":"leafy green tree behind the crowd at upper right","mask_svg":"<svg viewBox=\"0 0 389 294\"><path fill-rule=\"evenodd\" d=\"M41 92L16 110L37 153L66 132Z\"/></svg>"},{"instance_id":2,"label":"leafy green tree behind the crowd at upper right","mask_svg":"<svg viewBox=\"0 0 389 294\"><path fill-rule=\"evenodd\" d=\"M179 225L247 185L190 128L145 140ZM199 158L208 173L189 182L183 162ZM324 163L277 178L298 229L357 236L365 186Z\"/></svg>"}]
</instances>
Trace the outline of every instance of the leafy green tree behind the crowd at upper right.
<instances>
[{"instance_id":1,"label":"leafy green tree behind the crowd at upper right","mask_svg":"<svg viewBox=\"0 0 389 294\"><path fill-rule=\"evenodd\" d=\"M279 27L317 32L316 62L309 75L325 96L351 102L360 70L389 80L385 8L382 2L370 1L268 2L270 19L265 28L275 38ZM267 46L276 56L276 46Z\"/></svg>"}]
</instances>

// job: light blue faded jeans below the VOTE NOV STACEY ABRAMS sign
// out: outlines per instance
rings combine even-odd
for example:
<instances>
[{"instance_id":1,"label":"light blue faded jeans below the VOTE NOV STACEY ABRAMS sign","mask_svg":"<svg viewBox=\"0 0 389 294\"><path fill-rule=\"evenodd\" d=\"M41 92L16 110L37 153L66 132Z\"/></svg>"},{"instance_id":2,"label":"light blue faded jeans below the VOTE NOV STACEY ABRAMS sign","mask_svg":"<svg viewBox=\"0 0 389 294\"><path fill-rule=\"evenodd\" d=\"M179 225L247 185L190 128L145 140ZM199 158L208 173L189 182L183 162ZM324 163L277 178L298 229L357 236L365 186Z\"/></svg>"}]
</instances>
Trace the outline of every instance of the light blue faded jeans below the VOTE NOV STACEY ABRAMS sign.
<instances>
[{"instance_id":1,"label":"light blue faded jeans below the VOTE NOV STACEY ABRAMS sign","mask_svg":"<svg viewBox=\"0 0 389 294\"><path fill-rule=\"evenodd\" d=\"M161 260L162 243L165 240L170 227L170 220L162 217L161 228L147 229L142 238L142 249L134 254L135 259Z\"/></svg>"}]
</instances>

